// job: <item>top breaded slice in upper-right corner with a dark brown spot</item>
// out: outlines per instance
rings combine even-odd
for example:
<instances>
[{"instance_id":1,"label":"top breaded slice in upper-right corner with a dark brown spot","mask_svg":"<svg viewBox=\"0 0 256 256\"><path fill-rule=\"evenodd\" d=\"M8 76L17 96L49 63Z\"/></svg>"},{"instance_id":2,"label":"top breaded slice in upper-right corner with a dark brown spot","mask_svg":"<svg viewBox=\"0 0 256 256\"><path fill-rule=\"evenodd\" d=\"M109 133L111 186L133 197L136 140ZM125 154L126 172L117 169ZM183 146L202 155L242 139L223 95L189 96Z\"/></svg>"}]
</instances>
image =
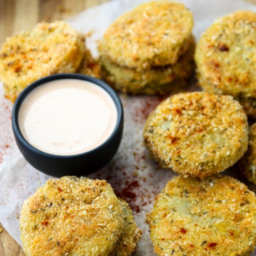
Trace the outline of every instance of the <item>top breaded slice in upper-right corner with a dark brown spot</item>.
<instances>
[{"instance_id":1,"label":"top breaded slice in upper-right corner with a dark brown spot","mask_svg":"<svg viewBox=\"0 0 256 256\"><path fill-rule=\"evenodd\" d=\"M218 94L256 98L256 13L237 11L217 19L195 51L199 82Z\"/></svg>"}]
</instances>

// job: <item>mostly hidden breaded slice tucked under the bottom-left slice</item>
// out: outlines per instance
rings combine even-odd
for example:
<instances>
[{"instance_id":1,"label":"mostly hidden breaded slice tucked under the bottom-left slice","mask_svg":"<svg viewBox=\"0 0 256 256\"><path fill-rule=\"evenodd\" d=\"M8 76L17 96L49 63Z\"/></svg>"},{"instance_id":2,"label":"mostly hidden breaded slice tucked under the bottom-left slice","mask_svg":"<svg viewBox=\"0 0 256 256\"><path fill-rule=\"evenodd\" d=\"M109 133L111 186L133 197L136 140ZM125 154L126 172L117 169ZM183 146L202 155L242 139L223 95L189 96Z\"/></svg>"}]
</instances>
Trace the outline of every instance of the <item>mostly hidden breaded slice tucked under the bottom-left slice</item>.
<instances>
[{"instance_id":1,"label":"mostly hidden breaded slice tucked under the bottom-left slice","mask_svg":"<svg viewBox=\"0 0 256 256\"><path fill-rule=\"evenodd\" d=\"M127 202L120 199L120 204L124 215L124 230L120 240L116 243L115 249L108 256L128 256L131 255L141 239L141 230L138 229L132 210Z\"/></svg>"}]
</instances>

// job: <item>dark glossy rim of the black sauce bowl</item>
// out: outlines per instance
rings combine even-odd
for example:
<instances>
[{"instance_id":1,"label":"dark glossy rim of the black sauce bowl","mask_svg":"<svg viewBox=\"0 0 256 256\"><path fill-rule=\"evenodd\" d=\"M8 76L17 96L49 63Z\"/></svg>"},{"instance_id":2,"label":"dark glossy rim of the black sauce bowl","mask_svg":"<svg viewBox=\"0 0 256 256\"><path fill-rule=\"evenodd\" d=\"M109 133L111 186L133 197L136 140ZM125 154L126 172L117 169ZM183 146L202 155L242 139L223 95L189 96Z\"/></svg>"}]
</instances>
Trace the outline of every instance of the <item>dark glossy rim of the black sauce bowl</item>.
<instances>
[{"instance_id":1,"label":"dark glossy rim of the black sauce bowl","mask_svg":"<svg viewBox=\"0 0 256 256\"><path fill-rule=\"evenodd\" d=\"M85 151L83 153L79 154L74 154L74 155L56 155L56 154L51 154L47 153L45 151L42 151L38 148L35 148L32 144L30 144L25 137L22 135L19 127L19 121L18 121L18 116L19 116L19 110L22 102L26 99L27 95L33 91L35 88L37 88L40 85L43 85L44 83L50 82L50 81L55 81L55 80L62 80L62 79L78 79L78 80L83 80L83 81L89 81L92 82L98 86L100 86L102 89L104 89L112 98L112 100L115 103L115 107L117 110L117 120L116 120L116 125L111 133L109 135L108 139L106 141L103 141L99 146L96 148L93 148L89 151ZM18 138L19 142L21 142L24 146L24 148L28 148L30 151L33 151L37 155L42 155L44 157L48 158L53 158L53 159L74 159L77 157L85 156L85 155L91 155L96 153L99 149L104 148L106 145L108 145L111 140L118 135L118 131L122 125L123 121L123 107L121 100L118 96L118 94L114 91L113 88L111 88L107 83L104 81L97 79L92 76L88 76L85 74L73 74L73 73L65 73L65 74L53 74L49 75L43 78L40 78L39 80L34 81L30 85L28 85L17 97L16 101L13 104L13 110L12 110L12 128L13 128L13 133L14 135Z\"/></svg>"}]
</instances>

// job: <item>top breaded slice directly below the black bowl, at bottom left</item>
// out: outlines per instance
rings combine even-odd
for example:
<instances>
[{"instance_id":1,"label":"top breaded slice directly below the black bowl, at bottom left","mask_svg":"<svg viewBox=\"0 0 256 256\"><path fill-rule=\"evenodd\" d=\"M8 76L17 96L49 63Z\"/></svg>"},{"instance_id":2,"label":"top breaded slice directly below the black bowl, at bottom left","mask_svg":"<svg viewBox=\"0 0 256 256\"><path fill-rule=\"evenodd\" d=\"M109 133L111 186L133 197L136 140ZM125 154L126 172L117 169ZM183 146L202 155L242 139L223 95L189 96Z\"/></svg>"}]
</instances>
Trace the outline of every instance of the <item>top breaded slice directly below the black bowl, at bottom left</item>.
<instances>
[{"instance_id":1,"label":"top breaded slice directly below the black bowl, at bottom left","mask_svg":"<svg viewBox=\"0 0 256 256\"><path fill-rule=\"evenodd\" d=\"M104 180L50 179L23 204L27 256L107 256L124 227L120 202Z\"/></svg>"}]
</instances>

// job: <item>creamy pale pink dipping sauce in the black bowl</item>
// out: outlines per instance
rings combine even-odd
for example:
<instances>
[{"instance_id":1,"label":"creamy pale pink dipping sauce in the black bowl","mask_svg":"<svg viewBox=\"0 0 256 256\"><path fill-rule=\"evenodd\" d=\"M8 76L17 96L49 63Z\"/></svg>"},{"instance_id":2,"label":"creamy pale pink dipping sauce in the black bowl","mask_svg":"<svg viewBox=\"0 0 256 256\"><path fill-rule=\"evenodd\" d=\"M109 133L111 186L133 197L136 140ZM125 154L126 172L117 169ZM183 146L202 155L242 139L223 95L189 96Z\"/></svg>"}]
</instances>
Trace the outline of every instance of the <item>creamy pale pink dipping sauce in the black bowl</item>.
<instances>
[{"instance_id":1,"label":"creamy pale pink dipping sauce in the black bowl","mask_svg":"<svg viewBox=\"0 0 256 256\"><path fill-rule=\"evenodd\" d=\"M112 134L117 109L100 86L61 79L31 91L19 110L19 127L35 148L54 155L76 155L101 145Z\"/></svg>"}]
</instances>

